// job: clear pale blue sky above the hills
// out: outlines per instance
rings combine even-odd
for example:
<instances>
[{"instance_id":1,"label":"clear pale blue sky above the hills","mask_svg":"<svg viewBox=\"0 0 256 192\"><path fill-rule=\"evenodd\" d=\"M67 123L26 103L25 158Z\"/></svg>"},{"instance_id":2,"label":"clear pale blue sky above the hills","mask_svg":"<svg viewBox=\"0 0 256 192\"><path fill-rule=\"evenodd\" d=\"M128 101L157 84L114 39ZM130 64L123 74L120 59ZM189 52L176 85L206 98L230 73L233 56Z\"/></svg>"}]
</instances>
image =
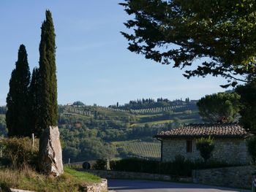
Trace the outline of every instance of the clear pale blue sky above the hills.
<instances>
[{"instance_id":1,"label":"clear pale blue sky above the hills","mask_svg":"<svg viewBox=\"0 0 256 192\"><path fill-rule=\"evenodd\" d=\"M121 0L44 0L0 2L0 105L5 104L9 80L20 44L26 46L32 70L38 66L40 27L50 9L56 30L59 104L124 104L139 98L200 99L225 91L221 77L187 80L180 69L130 53L124 22L129 16Z\"/></svg>"}]
</instances>

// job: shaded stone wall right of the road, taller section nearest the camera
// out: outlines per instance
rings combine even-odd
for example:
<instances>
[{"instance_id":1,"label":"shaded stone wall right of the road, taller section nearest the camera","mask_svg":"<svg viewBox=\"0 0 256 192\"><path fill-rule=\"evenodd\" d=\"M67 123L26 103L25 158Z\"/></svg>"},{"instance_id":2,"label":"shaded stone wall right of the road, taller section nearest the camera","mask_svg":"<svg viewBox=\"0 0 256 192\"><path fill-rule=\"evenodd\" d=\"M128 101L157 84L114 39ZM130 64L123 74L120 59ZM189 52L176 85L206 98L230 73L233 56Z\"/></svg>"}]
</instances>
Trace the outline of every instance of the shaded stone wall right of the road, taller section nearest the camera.
<instances>
[{"instance_id":1,"label":"shaded stone wall right of the road, taller section nearest the camera","mask_svg":"<svg viewBox=\"0 0 256 192\"><path fill-rule=\"evenodd\" d=\"M218 169L193 170L193 183L227 186L232 188L252 188L252 174L256 166L233 166Z\"/></svg>"}]
</instances>

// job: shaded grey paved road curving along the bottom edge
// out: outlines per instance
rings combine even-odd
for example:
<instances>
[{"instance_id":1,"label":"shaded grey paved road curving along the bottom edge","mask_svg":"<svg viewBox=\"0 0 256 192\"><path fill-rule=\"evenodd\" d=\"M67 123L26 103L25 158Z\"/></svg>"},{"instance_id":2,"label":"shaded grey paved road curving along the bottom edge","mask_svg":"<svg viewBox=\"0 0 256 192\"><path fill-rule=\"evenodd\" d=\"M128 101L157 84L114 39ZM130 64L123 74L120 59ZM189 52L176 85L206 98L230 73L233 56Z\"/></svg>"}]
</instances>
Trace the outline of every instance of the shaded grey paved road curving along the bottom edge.
<instances>
[{"instance_id":1,"label":"shaded grey paved road curving along the bottom edge","mask_svg":"<svg viewBox=\"0 0 256 192\"><path fill-rule=\"evenodd\" d=\"M192 183L170 183L151 180L108 180L108 189L115 192L247 192ZM248 191L249 192L249 191Z\"/></svg>"}]
</instances>

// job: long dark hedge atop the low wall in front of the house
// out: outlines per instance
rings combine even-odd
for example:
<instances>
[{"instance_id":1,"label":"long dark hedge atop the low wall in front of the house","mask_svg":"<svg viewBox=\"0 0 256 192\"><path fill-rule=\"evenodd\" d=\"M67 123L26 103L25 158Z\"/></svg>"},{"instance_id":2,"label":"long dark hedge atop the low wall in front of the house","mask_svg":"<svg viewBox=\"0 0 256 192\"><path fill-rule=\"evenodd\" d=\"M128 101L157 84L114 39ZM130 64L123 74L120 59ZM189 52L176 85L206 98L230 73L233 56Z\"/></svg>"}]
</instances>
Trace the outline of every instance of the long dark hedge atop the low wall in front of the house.
<instances>
[{"instance_id":1,"label":"long dark hedge atop the low wall in front of the house","mask_svg":"<svg viewBox=\"0 0 256 192\"><path fill-rule=\"evenodd\" d=\"M189 161L183 156L176 156L174 161L161 162L149 161L139 158L124 158L118 161L110 161L110 169L124 172L146 172L154 174L170 174L173 176L191 177L193 169L209 169L225 166L235 166L217 161Z\"/></svg>"}]
</instances>

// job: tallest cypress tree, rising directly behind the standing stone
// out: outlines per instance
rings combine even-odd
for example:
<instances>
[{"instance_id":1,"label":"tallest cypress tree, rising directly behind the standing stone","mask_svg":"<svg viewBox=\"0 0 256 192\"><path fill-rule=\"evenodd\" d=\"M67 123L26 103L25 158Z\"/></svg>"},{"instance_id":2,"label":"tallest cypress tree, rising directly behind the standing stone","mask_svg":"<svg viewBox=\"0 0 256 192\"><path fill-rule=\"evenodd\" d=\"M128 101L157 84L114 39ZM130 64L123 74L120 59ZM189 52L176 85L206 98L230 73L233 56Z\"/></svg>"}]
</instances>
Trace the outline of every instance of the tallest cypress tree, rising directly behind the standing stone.
<instances>
[{"instance_id":1,"label":"tallest cypress tree, rising directly behind the standing stone","mask_svg":"<svg viewBox=\"0 0 256 192\"><path fill-rule=\"evenodd\" d=\"M58 124L56 45L53 18L49 10L42 23L39 44L39 126L42 131Z\"/></svg>"}]
</instances>

